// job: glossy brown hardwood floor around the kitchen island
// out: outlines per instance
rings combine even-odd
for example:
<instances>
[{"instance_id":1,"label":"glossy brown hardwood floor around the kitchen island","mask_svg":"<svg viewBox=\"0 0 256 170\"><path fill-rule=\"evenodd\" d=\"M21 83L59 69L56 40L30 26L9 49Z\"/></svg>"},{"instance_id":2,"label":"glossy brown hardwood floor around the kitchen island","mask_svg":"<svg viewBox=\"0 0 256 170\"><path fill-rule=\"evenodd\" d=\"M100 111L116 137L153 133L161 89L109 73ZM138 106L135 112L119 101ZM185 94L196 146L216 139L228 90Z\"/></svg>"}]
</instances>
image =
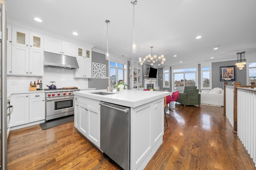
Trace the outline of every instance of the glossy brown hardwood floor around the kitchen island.
<instances>
[{"instance_id":1,"label":"glossy brown hardwood floor around the kitchen island","mask_svg":"<svg viewBox=\"0 0 256 170\"><path fill-rule=\"evenodd\" d=\"M174 103L174 102L173 102ZM223 107L182 106L167 116L163 143L145 170L256 170ZM166 123L165 123L166 124ZM166 126L165 126L166 128ZM119 170L74 127L42 130L39 125L10 132L10 170Z\"/></svg>"}]
</instances>

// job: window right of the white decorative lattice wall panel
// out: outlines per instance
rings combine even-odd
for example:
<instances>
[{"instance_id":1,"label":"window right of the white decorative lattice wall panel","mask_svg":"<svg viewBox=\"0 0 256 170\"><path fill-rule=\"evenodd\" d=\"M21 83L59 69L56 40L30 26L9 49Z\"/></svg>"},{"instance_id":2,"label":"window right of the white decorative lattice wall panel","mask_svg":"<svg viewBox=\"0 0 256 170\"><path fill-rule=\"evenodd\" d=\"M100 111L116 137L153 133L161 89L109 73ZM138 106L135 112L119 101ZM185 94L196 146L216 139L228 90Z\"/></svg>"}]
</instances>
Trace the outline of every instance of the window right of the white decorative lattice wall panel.
<instances>
[{"instance_id":1,"label":"window right of the white decorative lattice wall panel","mask_svg":"<svg viewBox=\"0 0 256 170\"><path fill-rule=\"evenodd\" d=\"M124 64L110 61L109 65L110 78L112 85L115 87L116 84L124 82Z\"/></svg>"}]
</instances>

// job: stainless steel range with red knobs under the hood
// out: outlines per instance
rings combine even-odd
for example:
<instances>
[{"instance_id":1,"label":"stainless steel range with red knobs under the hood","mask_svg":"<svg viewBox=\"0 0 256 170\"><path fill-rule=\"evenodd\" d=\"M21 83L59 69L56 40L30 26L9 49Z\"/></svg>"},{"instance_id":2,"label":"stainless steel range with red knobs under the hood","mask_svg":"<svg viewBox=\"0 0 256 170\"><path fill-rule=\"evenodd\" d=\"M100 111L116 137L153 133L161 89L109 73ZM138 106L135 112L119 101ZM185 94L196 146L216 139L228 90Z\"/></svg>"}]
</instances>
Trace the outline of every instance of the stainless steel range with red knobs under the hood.
<instances>
[{"instance_id":1,"label":"stainless steel range with red knobs under the hood","mask_svg":"<svg viewBox=\"0 0 256 170\"><path fill-rule=\"evenodd\" d=\"M46 121L74 114L73 92L79 91L79 89L57 88L44 90L46 90Z\"/></svg>"}]
</instances>

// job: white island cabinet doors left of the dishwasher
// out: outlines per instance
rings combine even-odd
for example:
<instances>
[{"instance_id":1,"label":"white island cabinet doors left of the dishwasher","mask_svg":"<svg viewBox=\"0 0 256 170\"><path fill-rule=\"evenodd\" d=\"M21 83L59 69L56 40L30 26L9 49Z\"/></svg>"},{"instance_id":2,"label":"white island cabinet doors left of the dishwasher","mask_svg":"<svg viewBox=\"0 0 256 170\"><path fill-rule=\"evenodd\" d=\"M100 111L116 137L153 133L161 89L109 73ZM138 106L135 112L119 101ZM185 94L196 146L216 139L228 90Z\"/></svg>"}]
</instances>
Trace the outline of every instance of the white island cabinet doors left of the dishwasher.
<instances>
[{"instance_id":1,"label":"white island cabinet doors left of the dishwasher","mask_svg":"<svg viewBox=\"0 0 256 170\"><path fill-rule=\"evenodd\" d=\"M100 148L100 109L75 102L74 125L80 133Z\"/></svg>"}]
</instances>

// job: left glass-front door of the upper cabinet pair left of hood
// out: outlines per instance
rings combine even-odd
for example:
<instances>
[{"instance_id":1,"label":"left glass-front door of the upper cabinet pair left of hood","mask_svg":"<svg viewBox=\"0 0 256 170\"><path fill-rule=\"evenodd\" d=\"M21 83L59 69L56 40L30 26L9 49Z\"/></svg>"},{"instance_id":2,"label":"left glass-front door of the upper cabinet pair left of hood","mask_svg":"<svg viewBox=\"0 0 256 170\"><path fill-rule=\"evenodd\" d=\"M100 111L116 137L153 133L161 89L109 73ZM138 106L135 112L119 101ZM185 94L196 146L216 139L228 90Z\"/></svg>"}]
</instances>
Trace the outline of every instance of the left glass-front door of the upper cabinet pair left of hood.
<instances>
[{"instance_id":1,"label":"left glass-front door of the upper cabinet pair left of hood","mask_svg":"<svg viewBox=\"0 0 256 170\"><path fill-rule=\"evenodd\" d=\"M12 27L12 45L29 47L29 31L22 28Z\"/></svg>"}]
</instances>

